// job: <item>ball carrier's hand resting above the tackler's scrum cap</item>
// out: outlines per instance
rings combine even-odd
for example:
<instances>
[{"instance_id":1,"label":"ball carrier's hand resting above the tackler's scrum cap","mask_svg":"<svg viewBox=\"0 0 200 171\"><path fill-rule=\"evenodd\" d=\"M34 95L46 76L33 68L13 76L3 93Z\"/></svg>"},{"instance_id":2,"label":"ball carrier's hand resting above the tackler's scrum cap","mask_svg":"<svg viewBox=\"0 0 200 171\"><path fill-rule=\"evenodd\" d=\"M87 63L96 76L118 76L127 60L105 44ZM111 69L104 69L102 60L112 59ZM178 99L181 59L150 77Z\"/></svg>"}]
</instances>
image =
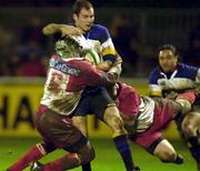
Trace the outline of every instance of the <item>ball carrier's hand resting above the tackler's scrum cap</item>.
<instances>
[{"instance_id":1,"label":"ball carrier's hand resting above the tackler's scrum cap","mask_svg":"<svg viewBox=\"0 0 200 171\"><path fill-rule=\"evenodd\" d=\"M60 32L61 32L62 37L82 34L82 31L79 28L74 27L74 26L62 26L60 28Z\"/></svg>"}]
</instances>

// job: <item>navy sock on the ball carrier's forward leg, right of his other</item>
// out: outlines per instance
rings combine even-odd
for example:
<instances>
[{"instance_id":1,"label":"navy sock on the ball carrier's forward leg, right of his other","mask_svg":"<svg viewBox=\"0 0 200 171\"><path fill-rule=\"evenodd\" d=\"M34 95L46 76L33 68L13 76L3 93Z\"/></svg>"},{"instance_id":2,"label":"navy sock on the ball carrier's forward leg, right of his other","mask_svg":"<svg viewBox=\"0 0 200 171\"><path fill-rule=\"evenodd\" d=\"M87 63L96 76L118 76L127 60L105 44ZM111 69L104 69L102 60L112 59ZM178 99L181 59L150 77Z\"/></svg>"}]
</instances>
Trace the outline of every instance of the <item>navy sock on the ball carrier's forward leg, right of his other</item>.
<instances>
[{"instance_id":1,"label":"navy sock on the ball carrier's forward leg, right of his other","mask_svg":"<svg viewBox=\"0 0 200 171\"><path fill-rule=\"evenodd\" d=\"M118 137L113 138L113 141L116 143L116 148L118 149L118 151L123 160L127 171L133 171L134 163L132 161L131 150L129 147L127 134L118 135Z\"/></svg>"}]
</instances>

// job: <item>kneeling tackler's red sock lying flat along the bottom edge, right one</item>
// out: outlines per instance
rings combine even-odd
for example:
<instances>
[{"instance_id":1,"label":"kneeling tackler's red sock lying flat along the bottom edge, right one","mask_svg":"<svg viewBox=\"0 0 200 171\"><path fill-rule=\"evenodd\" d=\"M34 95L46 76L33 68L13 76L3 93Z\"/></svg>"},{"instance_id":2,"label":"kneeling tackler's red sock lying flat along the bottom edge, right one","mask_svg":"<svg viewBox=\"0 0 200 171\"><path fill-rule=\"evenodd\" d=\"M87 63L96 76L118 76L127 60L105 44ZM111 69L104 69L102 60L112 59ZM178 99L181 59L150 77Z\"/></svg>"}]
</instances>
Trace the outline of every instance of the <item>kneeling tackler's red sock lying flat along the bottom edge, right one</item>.
<instances>
[{"instance_id":1,"label":"kneeling tackler's red sock lying flat along the bottom edge, right one","mask_svg":"<svg viewBox=\"0 0 200 171\"><path fill-rule=\"evenodd\" d=\"M41 170L42 171L51 171L51 170L63 171L63 170L76 168L80 165L80 163L81 163L81 160L77 153L68 153L58 160L43 164Z\"/></svg>"}]
</instances>

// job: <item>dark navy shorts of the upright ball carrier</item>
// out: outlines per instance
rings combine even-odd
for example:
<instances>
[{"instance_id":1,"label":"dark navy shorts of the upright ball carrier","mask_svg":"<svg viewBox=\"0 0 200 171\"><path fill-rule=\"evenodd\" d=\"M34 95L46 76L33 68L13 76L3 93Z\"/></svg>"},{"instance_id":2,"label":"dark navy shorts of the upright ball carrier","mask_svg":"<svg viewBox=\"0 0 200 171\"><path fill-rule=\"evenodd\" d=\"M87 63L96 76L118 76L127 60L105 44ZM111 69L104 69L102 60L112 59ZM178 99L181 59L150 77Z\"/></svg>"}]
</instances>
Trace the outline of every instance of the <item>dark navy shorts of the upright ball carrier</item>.
<instances>
[{"instance_id":1,"label":"dark navy shorts of the upright ball carrier","mask_svg":"<svg viewBox=\"0 0 200 171\"><path fill-rule=\"evenodd\" d=\"M73 117L96 114L102 120L104 110L111 105L116 105L116 103L104 87L87 88L73 112Z\"/></svg>"}]
</instances>

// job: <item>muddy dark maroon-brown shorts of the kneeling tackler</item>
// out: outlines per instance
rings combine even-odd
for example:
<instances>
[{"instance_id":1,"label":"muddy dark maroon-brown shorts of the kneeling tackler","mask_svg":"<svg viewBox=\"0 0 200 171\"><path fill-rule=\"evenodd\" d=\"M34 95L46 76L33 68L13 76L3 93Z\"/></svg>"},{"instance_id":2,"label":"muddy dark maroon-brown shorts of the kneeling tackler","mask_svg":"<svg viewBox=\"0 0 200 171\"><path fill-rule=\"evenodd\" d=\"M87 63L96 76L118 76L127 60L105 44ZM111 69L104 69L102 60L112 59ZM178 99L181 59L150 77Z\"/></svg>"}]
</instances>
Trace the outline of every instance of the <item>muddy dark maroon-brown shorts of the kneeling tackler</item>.
<instances>
[{"instance_id":1,"label":"muddy dark maroon-brown shorts of the kneeling tackler","mask_svg":"<svg viewBox=\"0 0 200 171\"><path fill-rule=\"evenodd\" d=\"M50 109L37 113L36 127L46 142L56 148L77 152L88 139L72 124L69 117L61 115Z\"/></svg>"}]
</instances>

